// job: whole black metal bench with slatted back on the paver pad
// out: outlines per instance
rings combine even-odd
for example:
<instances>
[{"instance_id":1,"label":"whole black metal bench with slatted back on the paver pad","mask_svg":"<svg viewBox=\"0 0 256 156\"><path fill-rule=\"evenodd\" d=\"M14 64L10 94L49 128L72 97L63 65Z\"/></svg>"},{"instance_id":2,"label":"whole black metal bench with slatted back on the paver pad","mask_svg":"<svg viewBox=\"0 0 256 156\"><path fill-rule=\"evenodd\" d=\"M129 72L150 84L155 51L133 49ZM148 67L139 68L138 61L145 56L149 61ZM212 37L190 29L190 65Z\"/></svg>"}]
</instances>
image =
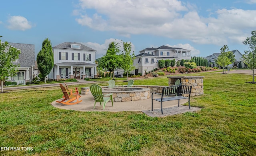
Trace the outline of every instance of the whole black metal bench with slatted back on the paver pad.
<instances>
[{"instance_id":1,"label":"whole black metal bench with slatted back on the paver pad","mask_svg":"<svg viewBox=\"0 0 256 156\"><path fill-rule=\"evenodd\" d=\"M189 106L189 109L190 109L191 89L192 89L192 86L174 85L174 86L168 86L168 87L163 88L162 89L162 94L152 93L152 95L151 95L151 99L152 99L151 100L152 101L151 110L153 111L153 100L161 102L161 112L163 114L162 102L178 100L178 106L180 106L180 100L181 99L188 99L188 106ZM153 94L161 95L161 98L153 98ZM188 94L188 97L184 96L184 94Z\"/></svg>"}]
</instances>

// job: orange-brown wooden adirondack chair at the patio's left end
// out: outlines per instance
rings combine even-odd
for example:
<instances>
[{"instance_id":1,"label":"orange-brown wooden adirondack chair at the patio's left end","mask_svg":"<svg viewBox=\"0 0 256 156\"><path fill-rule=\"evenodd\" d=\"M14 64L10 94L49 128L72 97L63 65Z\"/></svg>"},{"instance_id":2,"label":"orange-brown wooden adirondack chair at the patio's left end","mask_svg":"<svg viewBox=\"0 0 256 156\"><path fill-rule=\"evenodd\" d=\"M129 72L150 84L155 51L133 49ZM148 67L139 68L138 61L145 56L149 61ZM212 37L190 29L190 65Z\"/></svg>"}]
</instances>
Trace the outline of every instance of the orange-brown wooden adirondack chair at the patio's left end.
<instances>
[{"instance_id":1,"label":"orange-brown wooden adirondack chair at the patio's left end","mask_svg":"<svg viewBox=\"0 0 256 156\"><path fill-rule=\"evenodd\" d=\"M81 96L78 95L78 88L76 88L75 94L73 94L72 90L67 90L62 84L60 84L60 88L64 94L64 99L61 101L56 101L56 102L71 105L71 104L78 104L79 102L82 101L82 100L79 101L79 98ZM70 95L69 95L69 93L70 93ZM76 100L76 102L73 102L75 100Z\"/></svg>"}]
</instances>

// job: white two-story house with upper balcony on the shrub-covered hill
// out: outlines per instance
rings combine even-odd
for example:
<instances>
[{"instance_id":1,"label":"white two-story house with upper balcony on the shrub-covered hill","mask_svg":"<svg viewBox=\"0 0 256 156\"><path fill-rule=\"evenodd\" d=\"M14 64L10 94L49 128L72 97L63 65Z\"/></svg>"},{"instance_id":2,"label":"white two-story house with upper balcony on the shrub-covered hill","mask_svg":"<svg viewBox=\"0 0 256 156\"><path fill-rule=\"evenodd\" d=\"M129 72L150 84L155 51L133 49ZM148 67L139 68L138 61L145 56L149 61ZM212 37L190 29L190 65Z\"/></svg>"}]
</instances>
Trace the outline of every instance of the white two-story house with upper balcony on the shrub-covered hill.
<instances>
[{"instance_id":1,"label":"white two-story house with upper balcony on the shrub-covered hill","mask_svg":"<svg viewBox=\"0 0 256 156\"><path fill-rule=\"evenodd\" d=\"M140 54L136 55L133 65L135 70L132 71L132 74L137 75L138 73L145 74L146 71L153 70L154 68L159 68L159 60L189 60L191 59L190 53L191 50L183 48L174 48L169 46L160 46L158 48L146 48L139 52Z\"/></svg>"}]
</instances>

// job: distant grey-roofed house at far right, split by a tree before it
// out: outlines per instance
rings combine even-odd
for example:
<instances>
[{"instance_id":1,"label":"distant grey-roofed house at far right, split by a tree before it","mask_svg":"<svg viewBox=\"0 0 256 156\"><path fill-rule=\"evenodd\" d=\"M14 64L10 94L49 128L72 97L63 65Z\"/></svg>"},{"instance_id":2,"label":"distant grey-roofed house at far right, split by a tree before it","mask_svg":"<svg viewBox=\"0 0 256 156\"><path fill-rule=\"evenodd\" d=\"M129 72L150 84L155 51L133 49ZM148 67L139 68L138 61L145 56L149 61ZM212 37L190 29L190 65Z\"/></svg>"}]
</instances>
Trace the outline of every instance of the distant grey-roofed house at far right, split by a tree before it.
<instances>
[{"instance_id":1,"label":"distant grey-roofed house at far right, split by a tree before it","mask_svg":"<svg viewBox=\"0 0 256 156\"><path fill-rule=\"evenodd\" d=\"M235 62L233 62L232 64L229 64L228 66L230 68L234 67L234 64L236 64L236 66L238 67L238 64L241 62L241 65L242 65L242 68L244 68L244 62L243 62L243 59L242 59L242 54L238 51L238 50L232 50L231 52L233 52L233 54L235 55ZM218 56L220 55L221 53L213 53L212 55L209 55L209 56L206 56L205 59L208 60L210 66L212 67L216 67L217 64L216 64L216 59L218 58Z\"/></svg>"}]
</instances>

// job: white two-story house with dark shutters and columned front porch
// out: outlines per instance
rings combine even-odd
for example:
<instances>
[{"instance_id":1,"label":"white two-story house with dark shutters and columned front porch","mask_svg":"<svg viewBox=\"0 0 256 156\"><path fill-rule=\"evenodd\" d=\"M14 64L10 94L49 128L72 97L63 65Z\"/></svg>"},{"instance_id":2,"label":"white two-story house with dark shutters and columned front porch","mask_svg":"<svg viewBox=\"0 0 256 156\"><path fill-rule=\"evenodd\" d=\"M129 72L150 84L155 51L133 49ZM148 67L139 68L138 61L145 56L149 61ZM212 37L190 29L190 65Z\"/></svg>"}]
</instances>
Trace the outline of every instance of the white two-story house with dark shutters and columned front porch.
<instances>
[{"instance_id":1,"label":"white two-story house with dark shutters and columned front porch","mask_svg":"<svg viewBox=\"0 0 256 156\"><path fill-rule=\"evenodd\" d=\"M97 76L96 50L77 42L64 42L52 47L54 67L48 78L86 78Z\"/></svg>"}]
</instances>

